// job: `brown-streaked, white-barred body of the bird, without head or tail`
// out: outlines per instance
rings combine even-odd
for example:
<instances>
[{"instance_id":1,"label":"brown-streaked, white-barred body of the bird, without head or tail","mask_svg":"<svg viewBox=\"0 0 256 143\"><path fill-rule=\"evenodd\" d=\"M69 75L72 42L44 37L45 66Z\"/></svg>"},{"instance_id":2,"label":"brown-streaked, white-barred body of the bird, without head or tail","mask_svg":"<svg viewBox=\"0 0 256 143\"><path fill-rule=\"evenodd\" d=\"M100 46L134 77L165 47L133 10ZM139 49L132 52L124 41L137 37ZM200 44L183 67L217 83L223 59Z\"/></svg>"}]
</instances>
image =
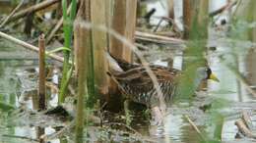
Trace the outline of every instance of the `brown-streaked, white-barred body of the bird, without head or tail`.
<instances>
[{"instance_id":1,"label":"brown-streaked, white-barred body of the bird, without head or tail","mask_svg":"<svg viewBox=\"0 0 256 143\"><path fill-rule=\"evenodd\" d=\"M180 71L168 69L161 66L150 66L160 83L160 89L164 98L171 99L177 83ZM154 88L152 79L143 67L134 68L128 71L114 74L119 84L125 90L128 98L135 102L152 106L158 103L158 95Z\"/></svg>"}]
</instances>

